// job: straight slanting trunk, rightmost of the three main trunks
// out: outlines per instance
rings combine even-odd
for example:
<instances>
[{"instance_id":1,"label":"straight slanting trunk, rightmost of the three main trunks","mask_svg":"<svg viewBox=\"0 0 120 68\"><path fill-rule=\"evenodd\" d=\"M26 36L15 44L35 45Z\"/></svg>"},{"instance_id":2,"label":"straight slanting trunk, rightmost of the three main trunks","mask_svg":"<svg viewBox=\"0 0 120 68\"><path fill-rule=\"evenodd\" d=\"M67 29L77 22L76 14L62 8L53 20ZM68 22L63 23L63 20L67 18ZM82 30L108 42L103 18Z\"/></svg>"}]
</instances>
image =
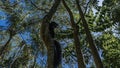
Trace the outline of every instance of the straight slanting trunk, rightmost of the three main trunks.
<instances>
[{"instance_id":1,"label":"straight slanting trunk, rightmost of the three main trunks","mask_svg":"<svg viewBox=\"0 0 120 68\"><path fill-rule=\"evenodd\" d=\"M81 20L82 20L82 23L83 23L85 33L87 35L87 40L89 42L89 47L91 49L91 52L92 52L96 67L97 68L103 68L102 61L101 61L100 56L98 54L97 48L95 47L92 35L91 35L90 30L88 28L87 21L85 20L83 11L82 11L82 9L81 9L81 7L79 5L79 0L76 0L76 3L77 3L78 10L79 10L79 15L81 16Z\"/></svg>"}]
</instances>

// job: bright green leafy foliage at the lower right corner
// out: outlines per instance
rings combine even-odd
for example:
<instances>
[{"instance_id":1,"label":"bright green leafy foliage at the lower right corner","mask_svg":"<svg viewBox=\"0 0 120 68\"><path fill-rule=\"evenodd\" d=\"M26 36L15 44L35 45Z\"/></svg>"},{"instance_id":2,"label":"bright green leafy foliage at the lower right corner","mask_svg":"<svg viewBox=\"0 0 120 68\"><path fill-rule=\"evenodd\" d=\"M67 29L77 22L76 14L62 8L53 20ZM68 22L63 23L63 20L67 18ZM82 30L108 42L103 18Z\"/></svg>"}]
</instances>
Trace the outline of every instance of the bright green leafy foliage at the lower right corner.
<instances>
[{"instance_id":1,"label":"bright green leafy foliage at the lower right corner","mask_svg":"<svg viewBox=\"0 0 120 68\"><path fill-rule=\"evenodd\" d=\"M104 33L99 39L102 43L102 56L106 67L118 68L120 65L120 39L110 33Z\"/></svg>"}]
</instances>

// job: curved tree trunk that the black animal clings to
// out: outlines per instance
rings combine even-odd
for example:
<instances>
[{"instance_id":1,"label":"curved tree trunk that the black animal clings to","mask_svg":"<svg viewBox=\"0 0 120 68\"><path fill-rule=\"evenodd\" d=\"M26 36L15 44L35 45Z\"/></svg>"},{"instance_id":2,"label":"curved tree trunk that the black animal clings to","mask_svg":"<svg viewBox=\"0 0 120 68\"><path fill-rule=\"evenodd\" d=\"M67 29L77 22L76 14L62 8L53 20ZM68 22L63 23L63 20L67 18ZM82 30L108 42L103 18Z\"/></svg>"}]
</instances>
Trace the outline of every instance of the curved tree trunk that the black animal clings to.
<instances>
[{"instance_id":1,"label":"curved tree trunk that the black animal clings to","mask_svg":"<svg viewBox=\"0 0 120 68\"><path fill-rule=\"evenodd\" d=\"M55 0L55 3L53 4L52 8L48 12L48 14L43 18L43 21L41 23L40 35L47 48L47 55L48 55L47 68L54 68L54 57L53 57L54 56L54 40L51 38L49 34L48 26L60 2L61 0Z\"/></svg>"}]
</instances>

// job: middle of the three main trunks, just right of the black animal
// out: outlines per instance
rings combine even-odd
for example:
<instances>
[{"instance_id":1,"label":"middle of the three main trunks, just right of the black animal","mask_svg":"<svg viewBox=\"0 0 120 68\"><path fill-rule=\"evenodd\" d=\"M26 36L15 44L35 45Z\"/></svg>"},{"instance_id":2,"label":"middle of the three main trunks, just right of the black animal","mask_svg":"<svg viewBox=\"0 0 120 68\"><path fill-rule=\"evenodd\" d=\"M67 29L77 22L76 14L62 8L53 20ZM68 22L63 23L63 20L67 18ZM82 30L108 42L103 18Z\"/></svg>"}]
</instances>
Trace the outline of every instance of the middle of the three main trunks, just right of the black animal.
<instances>
[{"instance_id":1,"label":"middle of the three main trunks, just right of the black animal","mask_svg":"<svg viewBox=\"0 0 120 68\"><path fill-rule=\"evenodd\" d=\"M83 60L81 48L80 48L80 39L78 37L79 36L79 27L74 22L74 17L73 17L73 14L72 14L70 8L67 6L67 4L65 3L64 0L62 0L62 3L70 15L71 26L72 26L73 31L74 31L73 38L74 38L74 44L75 44L76 53L77 53L78 68L86 68L84 60Z\"/></svg>"}]
</instances>

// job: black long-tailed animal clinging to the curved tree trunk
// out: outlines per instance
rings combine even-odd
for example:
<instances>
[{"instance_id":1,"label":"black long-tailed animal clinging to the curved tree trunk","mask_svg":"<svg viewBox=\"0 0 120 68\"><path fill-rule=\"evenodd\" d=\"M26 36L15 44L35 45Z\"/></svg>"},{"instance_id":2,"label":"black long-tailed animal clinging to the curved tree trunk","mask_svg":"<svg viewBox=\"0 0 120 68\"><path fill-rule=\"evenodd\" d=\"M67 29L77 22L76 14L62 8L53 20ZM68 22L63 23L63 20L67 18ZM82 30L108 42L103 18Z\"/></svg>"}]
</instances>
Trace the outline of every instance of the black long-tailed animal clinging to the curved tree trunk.
<instances>
[{"instance_id":1,"label":"black long-tailed animal clinging to the curved tree trunk","mask_svg":"<svg viewBox=\"0 0 120 68\"><path fill-rule=\"evenodd\" d=\"M54 39L55 38L55 32L54 29L58 26L57 23L51 22L49 23L49 32L51 37ZM54 39L54 68L57 68L59 64L61 63L61 46L58 41Z\"/></svg>"}]
</instances>

